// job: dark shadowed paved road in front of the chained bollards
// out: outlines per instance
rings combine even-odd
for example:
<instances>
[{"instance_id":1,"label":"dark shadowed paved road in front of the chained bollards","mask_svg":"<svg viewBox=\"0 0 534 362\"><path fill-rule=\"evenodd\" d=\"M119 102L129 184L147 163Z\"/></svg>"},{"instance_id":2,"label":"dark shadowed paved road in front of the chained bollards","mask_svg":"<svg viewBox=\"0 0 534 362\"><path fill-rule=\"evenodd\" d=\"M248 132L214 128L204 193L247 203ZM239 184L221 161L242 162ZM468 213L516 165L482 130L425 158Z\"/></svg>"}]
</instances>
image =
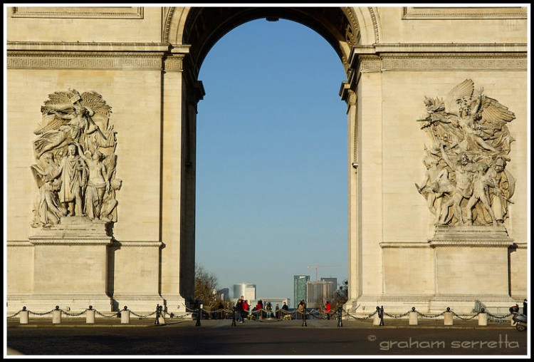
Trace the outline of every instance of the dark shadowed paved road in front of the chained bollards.
<instances>
[{"instance_id":1,"label":"dark shadowed paved road in front of the chained bollards","mask_svg":"<svg viewBox=\"0 0 534 362\"><path fill-rule=\"evenodd\" d=\"M388 321L373 326L360 321L310 320L153 321L136 324L8 324L7 346L31 356L526 356L527 333L507 323L492 326L437 322L407 326ZM442 322L441 322L442 323ZM5 353L5 352L4 352Z\"/></svg>"}]
</instances>

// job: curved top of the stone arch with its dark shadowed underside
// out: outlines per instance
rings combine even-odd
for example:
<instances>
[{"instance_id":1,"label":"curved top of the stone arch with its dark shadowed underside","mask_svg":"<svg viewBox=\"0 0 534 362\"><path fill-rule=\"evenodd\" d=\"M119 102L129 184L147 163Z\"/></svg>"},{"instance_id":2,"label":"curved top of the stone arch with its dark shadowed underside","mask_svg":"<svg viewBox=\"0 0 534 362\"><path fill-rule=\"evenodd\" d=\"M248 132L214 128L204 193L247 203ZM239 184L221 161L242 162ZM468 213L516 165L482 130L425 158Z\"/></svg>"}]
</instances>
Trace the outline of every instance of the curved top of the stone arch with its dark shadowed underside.
<instances>
[{"instance_id":1,"label":"curved top of the stone arch with its dark shadowed underside","mask_svg":"<svg viewBox=\"0 0 534 362\"><path fill-rule=\"evenodd\" d=\"M162 41L191 46L189 61L194 76L216 41L236 26L256 19L288 19L317 31L333 46L347 73L352 46L379 42L379 19L373 7L170 7L164 11Z\"/></svg>"}]
</instances>

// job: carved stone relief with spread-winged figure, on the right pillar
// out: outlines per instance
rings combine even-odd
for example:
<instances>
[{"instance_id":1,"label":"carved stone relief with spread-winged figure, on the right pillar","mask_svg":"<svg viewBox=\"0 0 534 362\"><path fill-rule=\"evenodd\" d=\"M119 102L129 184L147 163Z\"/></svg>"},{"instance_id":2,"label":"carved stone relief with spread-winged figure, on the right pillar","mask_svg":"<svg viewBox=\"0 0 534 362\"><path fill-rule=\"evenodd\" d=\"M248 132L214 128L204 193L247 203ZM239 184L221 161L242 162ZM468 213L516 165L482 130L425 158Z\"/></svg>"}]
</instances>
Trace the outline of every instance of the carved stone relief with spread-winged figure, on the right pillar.
<instances>
[{"instance_id":1,"label":"carved stone relief with spread-winged figure, on the right pillar","mask_svg":"<svg viewBox=\"0 0 534 362\"><path fill-rule=\"evenodd\" d=\"M425 96L418 122L429 136L423 181L415 184L436 225L499 225L508 217L515 179L508 170L514 141L511 110L476 89L471 79L446 98Z\"/></svg>"}]
</instances>

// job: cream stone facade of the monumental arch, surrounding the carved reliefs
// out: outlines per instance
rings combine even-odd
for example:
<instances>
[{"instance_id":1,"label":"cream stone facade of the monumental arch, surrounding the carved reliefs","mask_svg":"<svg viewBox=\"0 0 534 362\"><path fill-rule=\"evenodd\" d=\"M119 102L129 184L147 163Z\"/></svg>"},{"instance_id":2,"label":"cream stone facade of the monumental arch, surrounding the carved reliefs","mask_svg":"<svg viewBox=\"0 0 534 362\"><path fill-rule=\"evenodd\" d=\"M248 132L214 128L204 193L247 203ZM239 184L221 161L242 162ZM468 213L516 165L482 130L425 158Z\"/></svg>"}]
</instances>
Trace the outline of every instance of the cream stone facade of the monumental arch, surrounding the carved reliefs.
<instances>
[{"instance_id":1,"label":"cream stone facade of the monumental arch, surrounding the carved reliefs","mask_svg":"<svg viewBox=\"0 0 534 362\"><path fill-rule=\"evenodd\" d=\"M347 73L340 88L349 140L345 307L356 313L377 305L390 313L412 306L470 312L476 300L507 306L525 298L526 8L8 7L5 15L9 313L56 305L152 311L156 304L184 312L194 286L196 113L204 95L197 75L227 29L266 16L318 31ZM514 138L506 170L515 190L498 225L445 219L436 227L426 198L414 187L421 186L422 157L431 147L417 120L428 114L426 98L446 98L465 80L514 115L506 124ZM95 223L58 209L58 223L32 227L38 193L56 197L54 177L36 183L31 171L41 162L33 147L36 128L46 117L72 122L66 119L75 101L46 103L71 90L86 108L91 92L112 108L107 118L90 117L101 131L112 125L116 137L113 177L123 182L115 190L116 215L98 216ZM46 105L53 111L43 113ZM457 122L452 114L444 120ZM90 120L84 122L89 128ZM81 144L78 133L70 137ZM86 144L81 150L94 155L102 148ZM58 164L66 157L55 145L51 150ZM456 186L452 175L451 182ZM43 185L50 189L41 190ZM48 210L53 222L54 209Z\"/></svg>"}]
</instances>

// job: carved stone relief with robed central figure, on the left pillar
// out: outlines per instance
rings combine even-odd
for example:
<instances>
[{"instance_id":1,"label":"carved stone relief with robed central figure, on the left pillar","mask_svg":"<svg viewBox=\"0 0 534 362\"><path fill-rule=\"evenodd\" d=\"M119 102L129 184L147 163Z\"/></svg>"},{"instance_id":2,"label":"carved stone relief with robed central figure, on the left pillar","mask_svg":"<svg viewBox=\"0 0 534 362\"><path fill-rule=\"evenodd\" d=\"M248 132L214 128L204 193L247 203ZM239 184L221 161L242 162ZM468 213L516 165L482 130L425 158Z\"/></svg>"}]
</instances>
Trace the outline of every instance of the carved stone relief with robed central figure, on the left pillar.
<instances>
[{"instance_id":1,"label":"carved stone relief with robed central figure, on the left pillar","mask_svg":"<svg viewBox=\"0 0 534 362\"><path fill-rule=\"evenodd\" d=\"M69 89L48 95L33 133L38 187L31 227L48 228L64 217L116 222L122 180L117 167L111 107L96 92Z\"/></svg>"}]
</instances>

